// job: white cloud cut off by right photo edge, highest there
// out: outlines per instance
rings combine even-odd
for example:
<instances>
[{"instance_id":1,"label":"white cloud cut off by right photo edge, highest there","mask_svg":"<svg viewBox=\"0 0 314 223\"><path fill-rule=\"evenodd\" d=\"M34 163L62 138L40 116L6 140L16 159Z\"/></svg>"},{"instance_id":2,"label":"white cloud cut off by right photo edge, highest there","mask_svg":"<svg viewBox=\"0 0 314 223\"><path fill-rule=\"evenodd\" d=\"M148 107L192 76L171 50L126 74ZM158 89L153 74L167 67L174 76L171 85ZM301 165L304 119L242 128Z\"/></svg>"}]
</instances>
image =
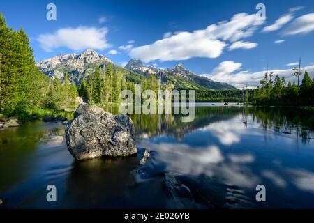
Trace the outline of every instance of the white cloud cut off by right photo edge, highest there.
<instances>
[{"instance_id":1,"label":"white cloud cut off by right photo edge, highest there","mask_svg":"<svg viewBox=\"0 0 314 223\"><path fill-rule=\"evenodd\" d=\"M302 15L295 19L283 31L284 35L305 34L314 31L314 13Z\"/></svg>"}]
</instances>

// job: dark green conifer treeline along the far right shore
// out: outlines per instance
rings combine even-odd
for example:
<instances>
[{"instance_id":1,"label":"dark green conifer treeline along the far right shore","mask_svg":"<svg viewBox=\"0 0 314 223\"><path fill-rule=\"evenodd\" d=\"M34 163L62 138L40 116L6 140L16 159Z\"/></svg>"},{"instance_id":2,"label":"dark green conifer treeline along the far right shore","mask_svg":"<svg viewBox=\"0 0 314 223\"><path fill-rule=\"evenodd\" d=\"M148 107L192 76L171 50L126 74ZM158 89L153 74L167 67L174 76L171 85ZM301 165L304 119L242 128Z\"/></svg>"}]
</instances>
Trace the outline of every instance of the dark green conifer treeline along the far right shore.
<instances>
[{"instance_id":1,"label":"dark green conifer treeline along the far right shore","mask_svg":"<svg viewBox=\"0 0 314 223\"><path fill-rule=\"evenodd\" d=\"M197 91L195 102L245 102L247 105L314 105L314 78L304 72L300 86L272 72L266 73L256 89Z\"/></svg>"}]
</instances>

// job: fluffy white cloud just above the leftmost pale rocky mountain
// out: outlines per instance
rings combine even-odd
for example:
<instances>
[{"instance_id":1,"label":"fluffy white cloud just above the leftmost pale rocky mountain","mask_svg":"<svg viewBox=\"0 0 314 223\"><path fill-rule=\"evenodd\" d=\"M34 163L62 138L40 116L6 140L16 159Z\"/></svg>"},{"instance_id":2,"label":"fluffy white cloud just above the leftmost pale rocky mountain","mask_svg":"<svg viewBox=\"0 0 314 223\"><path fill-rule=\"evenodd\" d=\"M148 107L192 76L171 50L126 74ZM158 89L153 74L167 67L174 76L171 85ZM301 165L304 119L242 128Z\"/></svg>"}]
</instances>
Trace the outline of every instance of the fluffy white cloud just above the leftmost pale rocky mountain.
<instances>
[{"instance_id":1,"label":"fluffy white cloud just above the leftmost pale rocky mountain","mask_svg":"<svg viewBox=\"0 0 314 223\"><path fill-rule=\"evenodd\" d=\"M107 43L107 28L96 28L79 26L77 28L58 29L51 34L41 34L37 40L40 47L47 52L52 52L59 47L67 47L74 51L83 49L106 49L110 47Z\"/></svg>"}]
</instances>

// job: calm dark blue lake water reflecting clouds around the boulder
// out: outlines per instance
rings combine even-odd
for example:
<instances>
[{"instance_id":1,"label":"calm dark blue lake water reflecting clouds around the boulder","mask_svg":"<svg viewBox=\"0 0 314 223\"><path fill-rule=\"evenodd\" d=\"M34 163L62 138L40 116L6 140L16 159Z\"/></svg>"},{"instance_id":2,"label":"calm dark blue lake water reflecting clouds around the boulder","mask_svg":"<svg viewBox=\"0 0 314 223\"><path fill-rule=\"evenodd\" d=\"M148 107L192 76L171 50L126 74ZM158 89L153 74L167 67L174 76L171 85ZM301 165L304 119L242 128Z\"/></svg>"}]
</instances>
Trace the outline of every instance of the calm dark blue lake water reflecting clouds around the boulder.
<instances>
[{"instance_id":1,"label":"calm dark blue lake water reflecting clouds around the boulder","mask_svg":"<svg viewBox=\"0 0 314 223\"><path fill-rule=\"evenodd\" d=\"M1 129L0 208L314 208L313 112L209 104L191 123L131 118L137 155L82 162L61 123ZM57 202L46 201L50 184ZM260 184L266 202L255 200Z\"/></svg>"}]
</instances>

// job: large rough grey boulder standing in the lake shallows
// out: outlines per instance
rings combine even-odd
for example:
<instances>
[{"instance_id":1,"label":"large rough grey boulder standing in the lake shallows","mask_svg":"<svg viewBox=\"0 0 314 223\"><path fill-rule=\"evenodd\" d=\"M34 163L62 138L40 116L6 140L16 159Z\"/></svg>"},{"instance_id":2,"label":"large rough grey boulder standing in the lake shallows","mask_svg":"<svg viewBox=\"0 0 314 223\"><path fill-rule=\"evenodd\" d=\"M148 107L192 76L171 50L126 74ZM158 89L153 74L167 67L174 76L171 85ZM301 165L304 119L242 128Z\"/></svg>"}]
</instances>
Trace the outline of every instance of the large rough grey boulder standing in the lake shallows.
<instances>
[{"instance_id":1,"label":"large rough grey boulder standing in the lake shallows","mask_svg":"<svg viewBox=\"0 0 314 223\"><path fill-rule=\"evenodd\" d=\"M137 153L135 128L125 115L113 115L96 105L81 104L66 124L66 144L76 160Z\"/></svg>"}]
</instances>

